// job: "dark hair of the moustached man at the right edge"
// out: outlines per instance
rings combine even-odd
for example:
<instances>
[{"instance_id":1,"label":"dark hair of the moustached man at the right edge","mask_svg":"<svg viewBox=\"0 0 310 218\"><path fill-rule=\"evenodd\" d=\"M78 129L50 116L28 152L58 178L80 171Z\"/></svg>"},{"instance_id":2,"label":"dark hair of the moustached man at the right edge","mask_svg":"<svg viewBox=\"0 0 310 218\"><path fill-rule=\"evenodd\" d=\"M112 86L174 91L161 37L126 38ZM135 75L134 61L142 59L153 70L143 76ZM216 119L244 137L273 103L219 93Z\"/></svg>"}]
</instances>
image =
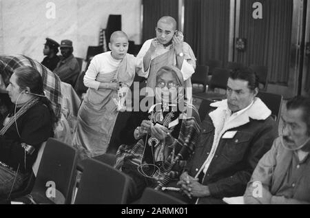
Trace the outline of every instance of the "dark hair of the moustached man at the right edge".
<instances>
[{"instance_id":1,"label":"dark hair of the moustached man at the right edge","mask_svg":"<svg viewBox=\"0 0 310 218\"><path fill-rule=\"evenodd\" d=\"M310 135L310 98L296 96L287 102L287 110L302 109L302 120L307 124L307 133Z\"/></svg>"}]
</instances>

